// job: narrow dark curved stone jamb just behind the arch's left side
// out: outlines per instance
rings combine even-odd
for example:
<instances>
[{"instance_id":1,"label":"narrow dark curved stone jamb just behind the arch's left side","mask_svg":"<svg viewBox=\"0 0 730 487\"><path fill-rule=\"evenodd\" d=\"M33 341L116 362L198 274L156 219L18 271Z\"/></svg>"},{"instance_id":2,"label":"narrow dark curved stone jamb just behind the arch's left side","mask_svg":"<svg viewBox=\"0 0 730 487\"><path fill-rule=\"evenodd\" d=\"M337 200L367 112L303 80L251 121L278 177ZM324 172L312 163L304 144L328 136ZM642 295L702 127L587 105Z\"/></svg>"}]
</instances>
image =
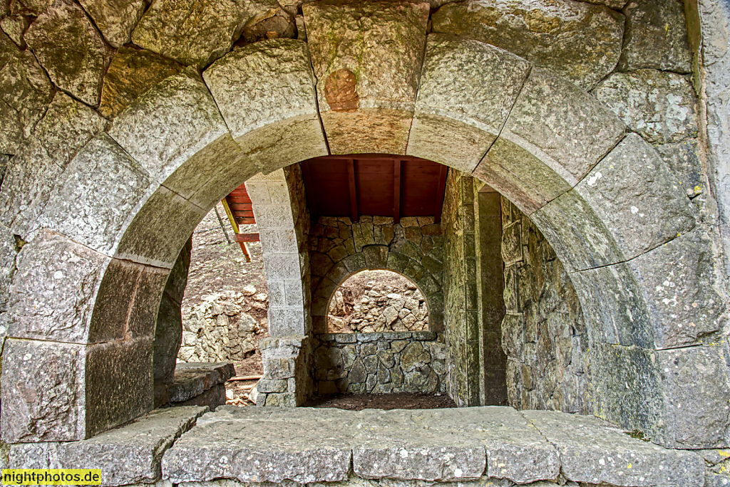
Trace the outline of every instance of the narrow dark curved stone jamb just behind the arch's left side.
<instances>
[{"instance_id":1,"label":"narrow dark curved stone jamb just behind the arch's left side","mask_svg":"<svg viewBox=\"0 0 730 487\"><path fill-rule=\"evenodd\" d=\"M168 389L174 382L175 362L180 340L183 338L183 305L185 285L188 284L193 239L191 238L180 251L165 283L160 308L155 324L155 344L153 347L153 367L155 378L155 406L168 402Z\"/></svg>"}]
</instances>

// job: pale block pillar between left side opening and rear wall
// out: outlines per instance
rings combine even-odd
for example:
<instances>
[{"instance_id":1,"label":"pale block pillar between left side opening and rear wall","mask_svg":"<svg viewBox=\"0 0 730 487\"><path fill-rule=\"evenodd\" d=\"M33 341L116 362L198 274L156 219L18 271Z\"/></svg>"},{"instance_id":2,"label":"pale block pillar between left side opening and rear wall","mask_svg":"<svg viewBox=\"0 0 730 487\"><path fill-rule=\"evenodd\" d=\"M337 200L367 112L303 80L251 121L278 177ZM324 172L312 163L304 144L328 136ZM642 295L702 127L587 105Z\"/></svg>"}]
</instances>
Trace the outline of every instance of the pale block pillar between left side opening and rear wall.
<instances>
[{"instance_id":1,"label":"pale block pillar between left side opening and rear wall","mask_svg":"<svg viewBox=\"0 0 730 487\"><path fill-rule=\"evenodd\" d=\"M264 250L269 334L262 340L264 378L258 405L298 406L310 387L310 216L299 165L246 182ZM269 399L269 394L272 395Z\"/></svg>"}]
</instances>

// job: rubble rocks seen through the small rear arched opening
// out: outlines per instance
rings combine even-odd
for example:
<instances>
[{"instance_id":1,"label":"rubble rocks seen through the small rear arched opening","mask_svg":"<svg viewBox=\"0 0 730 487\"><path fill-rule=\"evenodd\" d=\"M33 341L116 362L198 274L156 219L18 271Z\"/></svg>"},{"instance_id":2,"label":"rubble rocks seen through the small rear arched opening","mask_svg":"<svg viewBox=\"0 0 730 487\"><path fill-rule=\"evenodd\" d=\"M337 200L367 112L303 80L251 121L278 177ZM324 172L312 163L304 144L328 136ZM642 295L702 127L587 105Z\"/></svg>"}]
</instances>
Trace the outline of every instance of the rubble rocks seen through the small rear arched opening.
<instances>
[{"instance_id":1,"label":"rubble rocks seen through the small rear arched opening","mask_svg":"<svg viewBox=\"0 0 730 487\"><path fill-rule=\"evenodd\" d=\"M328 314L329 332L413 332L428 330L426 298L415 284L396 289L369 282L358 303L347 303L342 290L334 293Z\"/></svg>"}]
</instances>

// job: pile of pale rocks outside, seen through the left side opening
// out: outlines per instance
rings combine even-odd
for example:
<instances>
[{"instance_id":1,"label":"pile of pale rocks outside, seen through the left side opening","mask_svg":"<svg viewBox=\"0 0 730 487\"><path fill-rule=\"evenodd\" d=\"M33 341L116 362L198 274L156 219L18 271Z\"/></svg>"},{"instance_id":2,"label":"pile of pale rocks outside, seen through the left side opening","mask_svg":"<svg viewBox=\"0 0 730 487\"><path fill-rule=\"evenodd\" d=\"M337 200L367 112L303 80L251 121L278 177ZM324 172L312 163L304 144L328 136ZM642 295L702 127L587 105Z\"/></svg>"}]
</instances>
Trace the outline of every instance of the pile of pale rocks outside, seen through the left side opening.
<instances>
[{"instance_id":1,"label":"pile of pale rocks outside, seen through the left side opening","mask_svg":"<svg viewBox=\"0 0 730 487\"><path fill-rule=\"evenodd\" d=\"M245 304L243 293L225 291L205 295L200 304L183 310L183 346L177 357L183 362L225 362L255 351L255 335L266 327L266 319L259 322L245 313Z\"/></svg>"}]
</instances>

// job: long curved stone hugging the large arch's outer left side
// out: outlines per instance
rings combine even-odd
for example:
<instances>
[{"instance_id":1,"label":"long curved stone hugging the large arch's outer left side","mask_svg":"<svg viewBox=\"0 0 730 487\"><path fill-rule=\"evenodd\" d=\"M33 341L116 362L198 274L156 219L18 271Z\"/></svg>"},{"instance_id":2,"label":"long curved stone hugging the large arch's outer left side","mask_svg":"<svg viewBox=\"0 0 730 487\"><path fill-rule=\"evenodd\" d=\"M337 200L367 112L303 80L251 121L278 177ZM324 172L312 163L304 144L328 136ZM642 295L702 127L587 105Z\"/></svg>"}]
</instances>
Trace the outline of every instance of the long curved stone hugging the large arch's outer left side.
<instances>
[{"instance_id":1,"label":"long curved stone hugging the large arch's outer left side","mask_svg":"<svg viewBox=\"0 0 730 487\"><path fill-rule=\"evenodd\" d=\"M65 93L56 93L33 135L9 161L0 192L2 221L30 241L53 187L106 121Z\"/></svg>"}]
</instances>

